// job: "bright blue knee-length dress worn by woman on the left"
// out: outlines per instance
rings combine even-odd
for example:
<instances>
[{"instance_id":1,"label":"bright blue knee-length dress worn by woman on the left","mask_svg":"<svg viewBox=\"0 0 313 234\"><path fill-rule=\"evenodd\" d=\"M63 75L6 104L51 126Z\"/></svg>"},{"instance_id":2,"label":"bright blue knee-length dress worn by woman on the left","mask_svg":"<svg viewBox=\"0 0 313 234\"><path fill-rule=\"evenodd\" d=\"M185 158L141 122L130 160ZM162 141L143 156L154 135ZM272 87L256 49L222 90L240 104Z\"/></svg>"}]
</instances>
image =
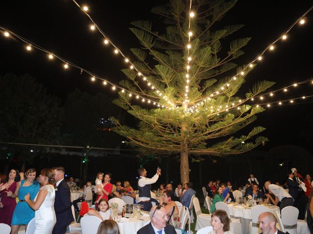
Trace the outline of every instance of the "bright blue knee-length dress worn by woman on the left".
<instances>
[{"instance_id":1,"label":"bright blue knee-length dress worn by woman on the left","mask_svg":"<svg viewBox=\"0 0 313 234\"><path fill-rule=\"evenodd\" d=\"M29 193L30 199L33 200L39 192L39 183L33 181L32 185L23 187L24 182L25 180L21 181L19 199L24 200L24 196ZM33 217L35 217L35 211L28 206L27 202L19 201L13 212L11 225L27 225Z\"/></svg>"}]
</instances>

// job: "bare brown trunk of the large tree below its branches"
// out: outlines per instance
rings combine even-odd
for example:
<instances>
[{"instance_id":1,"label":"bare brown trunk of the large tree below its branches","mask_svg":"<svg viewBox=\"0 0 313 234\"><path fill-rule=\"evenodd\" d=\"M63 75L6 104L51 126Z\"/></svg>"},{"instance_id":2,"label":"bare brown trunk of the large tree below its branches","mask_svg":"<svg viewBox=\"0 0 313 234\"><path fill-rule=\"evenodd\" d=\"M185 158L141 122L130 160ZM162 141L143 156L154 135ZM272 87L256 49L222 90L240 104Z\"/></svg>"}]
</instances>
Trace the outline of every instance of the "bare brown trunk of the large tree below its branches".
<instances>
[{"instance_id":1,"label":"bare brown trunk of the large tree below its branches","mask_svg":"<svg viewBox=\"0 0 313 234\"><path fill-rule=\"evenodd\" d=\"M188 136L186 125L181 125L180 181L184 185L189 182Z\"/></svg>"}]
</instances>

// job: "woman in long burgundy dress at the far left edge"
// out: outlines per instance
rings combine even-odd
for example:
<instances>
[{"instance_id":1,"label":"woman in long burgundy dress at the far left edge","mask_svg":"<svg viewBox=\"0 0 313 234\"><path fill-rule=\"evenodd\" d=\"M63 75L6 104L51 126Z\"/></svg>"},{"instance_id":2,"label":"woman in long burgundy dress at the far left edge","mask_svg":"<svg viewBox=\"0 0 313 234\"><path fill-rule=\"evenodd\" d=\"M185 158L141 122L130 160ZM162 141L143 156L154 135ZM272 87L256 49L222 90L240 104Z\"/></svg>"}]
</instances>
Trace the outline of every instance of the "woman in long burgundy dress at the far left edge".
<instances>
[{"instance_id":1,"label":"woman in long burgundy dress at the far left edge","mask_svg":"<svg viewBox=\"0 0 313 234\"><path fill-rule=\"evenodd\" d=\"M16 200L10 196L10 192L14 193L16 190L17 181L20 181L20 176L18 176L18 174L18 170L12 169L8 176L8 182L5 185L7 188L0 192L0 223L11 225L12 215L16 206Z\"/></svg>"}]
</instances>

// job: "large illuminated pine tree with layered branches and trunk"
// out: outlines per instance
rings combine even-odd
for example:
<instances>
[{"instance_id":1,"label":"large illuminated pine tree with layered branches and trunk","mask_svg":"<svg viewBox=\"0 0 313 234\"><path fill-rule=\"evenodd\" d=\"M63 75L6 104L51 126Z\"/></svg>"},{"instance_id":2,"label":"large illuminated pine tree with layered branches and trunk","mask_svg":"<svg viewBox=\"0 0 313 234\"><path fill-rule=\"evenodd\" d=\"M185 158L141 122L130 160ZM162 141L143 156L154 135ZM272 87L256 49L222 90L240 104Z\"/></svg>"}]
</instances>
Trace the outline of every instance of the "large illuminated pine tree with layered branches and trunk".
<instances>
[{"instance_id":1,"label":"large illuminated pine tree with layered branches and trunk","mask_svg":"<svg viewBox=\"0 0 313 234\"><path fill-rule=\"evenodd\" d=\"M162 33L154 31L149 21L132 22L131 30L142 47L131 49L137 59L133 63L137 71L122 70L128 79L120 84L133 96L119 92L114 103L140 122L131 128L115 119L114 131L126 137L143 156L180 156L183 183L189 181L189 157L241 154L268 140L256 137L264 131L259 126L246 135L237 133L264 111L246 101L273 82L259 81L246 97L236 96L256 64L233 63L244 54L241 49L249 38L229 37L243 25L219 25L218 21L235 3L236 0L194 0L190 8L190 1L171 0L152 9L163 19ZM195 17L190 18L191 12ZM143 88L143 82L149 90ZM145 103L150 100L151 105L135 105L138 100L134 95L144 98Z\"/></svg>"}]
</instances>

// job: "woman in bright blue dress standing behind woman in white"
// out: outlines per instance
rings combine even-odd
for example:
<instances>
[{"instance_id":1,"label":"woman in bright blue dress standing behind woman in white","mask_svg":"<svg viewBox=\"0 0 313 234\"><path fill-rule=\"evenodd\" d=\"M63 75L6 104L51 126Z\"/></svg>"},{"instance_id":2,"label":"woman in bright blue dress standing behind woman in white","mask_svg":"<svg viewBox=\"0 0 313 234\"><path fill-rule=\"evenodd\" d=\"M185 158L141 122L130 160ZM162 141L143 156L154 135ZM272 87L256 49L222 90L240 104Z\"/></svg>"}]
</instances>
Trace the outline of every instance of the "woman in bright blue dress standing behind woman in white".
<instances>
[{"instance_id":1,"label":"woman in bright blue dress standing behind woman in white","mask_svg":"<svg viewBox=\"0 0 313 234\"><path fill-rule=\"evenodd\" d=\"M12 198L20 198L13 212L11 234L17 234L21 225L25 225L26 230L29 221L35 217L35 211L33 211L23 199L24 196L29 193L30 199L33 200L39 191L39 183L35 180L36 170L34 168L28 169L27 172L25 172L25 176L26 179L18 182L14 194L12 194L12 192L7 194Z\"/></svg>"}]
</instances>

